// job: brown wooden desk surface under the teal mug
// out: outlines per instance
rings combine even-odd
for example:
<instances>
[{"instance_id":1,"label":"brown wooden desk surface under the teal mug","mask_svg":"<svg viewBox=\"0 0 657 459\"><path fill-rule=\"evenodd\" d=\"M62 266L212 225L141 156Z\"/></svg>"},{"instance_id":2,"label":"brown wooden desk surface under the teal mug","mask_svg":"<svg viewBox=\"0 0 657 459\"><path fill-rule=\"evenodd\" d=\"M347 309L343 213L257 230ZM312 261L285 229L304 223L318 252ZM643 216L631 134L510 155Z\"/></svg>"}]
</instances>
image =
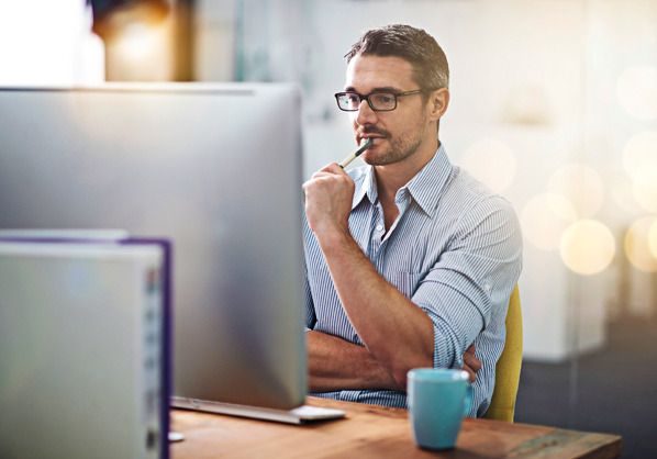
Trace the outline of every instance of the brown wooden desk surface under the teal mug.
<instances>
[{"instance_id":1,"label":"brown wooden desk surface under the teal mug","mask_svg":"<svg viewBox=\"0 0 657 459\"><path fill-rule=\"evenodd\" d=\"M456 449L425 451L413 443L405 410L309 399L338 407L346 419L302 426L172 411L186 440L172 459L205 458L615 458L621 437L489 419L465 419Z\"/></svg>"}]
</instances>

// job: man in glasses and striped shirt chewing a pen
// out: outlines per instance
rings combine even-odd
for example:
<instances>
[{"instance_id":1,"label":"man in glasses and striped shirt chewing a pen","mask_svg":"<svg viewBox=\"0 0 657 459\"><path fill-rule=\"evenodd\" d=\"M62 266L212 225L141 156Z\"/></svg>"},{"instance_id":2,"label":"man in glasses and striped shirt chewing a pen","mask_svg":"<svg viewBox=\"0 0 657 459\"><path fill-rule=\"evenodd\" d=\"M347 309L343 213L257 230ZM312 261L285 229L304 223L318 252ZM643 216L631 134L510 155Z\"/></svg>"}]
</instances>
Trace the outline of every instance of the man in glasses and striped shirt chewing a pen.
<instances>
[{"instance_id":1,"label":"man in glasses and striped shirt chewing a pen","mask_svg":"<svg viewBox=\"0 0 657 459\"><path fill-rule=\"evenodd\" d=\"M447 159L449 71L431 35L372 30L346 58L338 108L374 144L368 166L334 163L303 186L311 391L405 406L411 368L466 368L481 416L521 270L517 220Z\"/></svg>"}]
</instances>

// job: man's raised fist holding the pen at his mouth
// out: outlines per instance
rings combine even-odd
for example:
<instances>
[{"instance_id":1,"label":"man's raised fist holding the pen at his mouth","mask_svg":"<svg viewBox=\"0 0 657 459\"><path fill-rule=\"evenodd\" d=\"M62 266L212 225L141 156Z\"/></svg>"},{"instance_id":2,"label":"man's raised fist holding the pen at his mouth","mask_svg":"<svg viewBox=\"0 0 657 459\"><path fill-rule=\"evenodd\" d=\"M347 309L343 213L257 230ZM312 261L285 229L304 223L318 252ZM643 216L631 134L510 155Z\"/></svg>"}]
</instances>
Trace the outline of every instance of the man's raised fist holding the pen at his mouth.
<instances>
[{"instance_id":1,"label":"man's raised fist holding the pen at his mouth","mask_svg":"<svg viewBox=\"0 0 657 459\"><path fill-rule=\"evenodd\" d=\"M348 233L355 188L354 180L335 163L323 167L303 183L305 216L318 237L336 229Z\"/></svg>"}]
</instances>

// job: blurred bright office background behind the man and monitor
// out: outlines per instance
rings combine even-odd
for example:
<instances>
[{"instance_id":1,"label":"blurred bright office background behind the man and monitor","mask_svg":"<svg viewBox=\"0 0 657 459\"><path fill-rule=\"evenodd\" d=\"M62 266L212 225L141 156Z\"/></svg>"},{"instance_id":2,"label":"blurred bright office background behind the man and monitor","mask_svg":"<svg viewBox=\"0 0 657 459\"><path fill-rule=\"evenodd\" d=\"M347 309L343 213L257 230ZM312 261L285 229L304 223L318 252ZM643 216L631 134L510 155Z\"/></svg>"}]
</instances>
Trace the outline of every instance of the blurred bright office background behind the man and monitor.
<instances>
[{"instance_id":1,"label":"blurred bright office background behind the man and monitor","mask_svg":"<svg viewBox=\"0 0 657 459\"><path fill-rule=\"evenodd\" d=\"M655 456L657 1L118 3L99 36L85 0L0 0L0 85L294 81L305 176L354 147L333 93L359 34L434 35L452 70L441 139L523 227L516 421L619 433L624 457Z\"/></svg>"}]
</instances>

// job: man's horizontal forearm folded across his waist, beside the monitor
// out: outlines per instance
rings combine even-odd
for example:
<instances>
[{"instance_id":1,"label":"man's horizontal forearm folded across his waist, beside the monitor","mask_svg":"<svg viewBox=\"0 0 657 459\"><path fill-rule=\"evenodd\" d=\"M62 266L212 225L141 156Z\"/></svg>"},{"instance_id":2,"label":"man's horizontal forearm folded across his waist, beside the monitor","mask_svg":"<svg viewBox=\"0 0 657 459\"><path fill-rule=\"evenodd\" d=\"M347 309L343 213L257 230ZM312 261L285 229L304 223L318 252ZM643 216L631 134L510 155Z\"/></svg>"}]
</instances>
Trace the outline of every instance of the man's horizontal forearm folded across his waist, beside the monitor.
<instances>
[{"instance_id":1,"label":"man's horizontal forearm folded across his waist, beside the monitor","mask_svg":"<svg viewBox=\"0 0 657 459\"><path fill-rule=\"evenodd\" d=\"M321 332L307 332L305 339L311 391L405 390L365 347Z\"/></svg>"}]
</instances>

